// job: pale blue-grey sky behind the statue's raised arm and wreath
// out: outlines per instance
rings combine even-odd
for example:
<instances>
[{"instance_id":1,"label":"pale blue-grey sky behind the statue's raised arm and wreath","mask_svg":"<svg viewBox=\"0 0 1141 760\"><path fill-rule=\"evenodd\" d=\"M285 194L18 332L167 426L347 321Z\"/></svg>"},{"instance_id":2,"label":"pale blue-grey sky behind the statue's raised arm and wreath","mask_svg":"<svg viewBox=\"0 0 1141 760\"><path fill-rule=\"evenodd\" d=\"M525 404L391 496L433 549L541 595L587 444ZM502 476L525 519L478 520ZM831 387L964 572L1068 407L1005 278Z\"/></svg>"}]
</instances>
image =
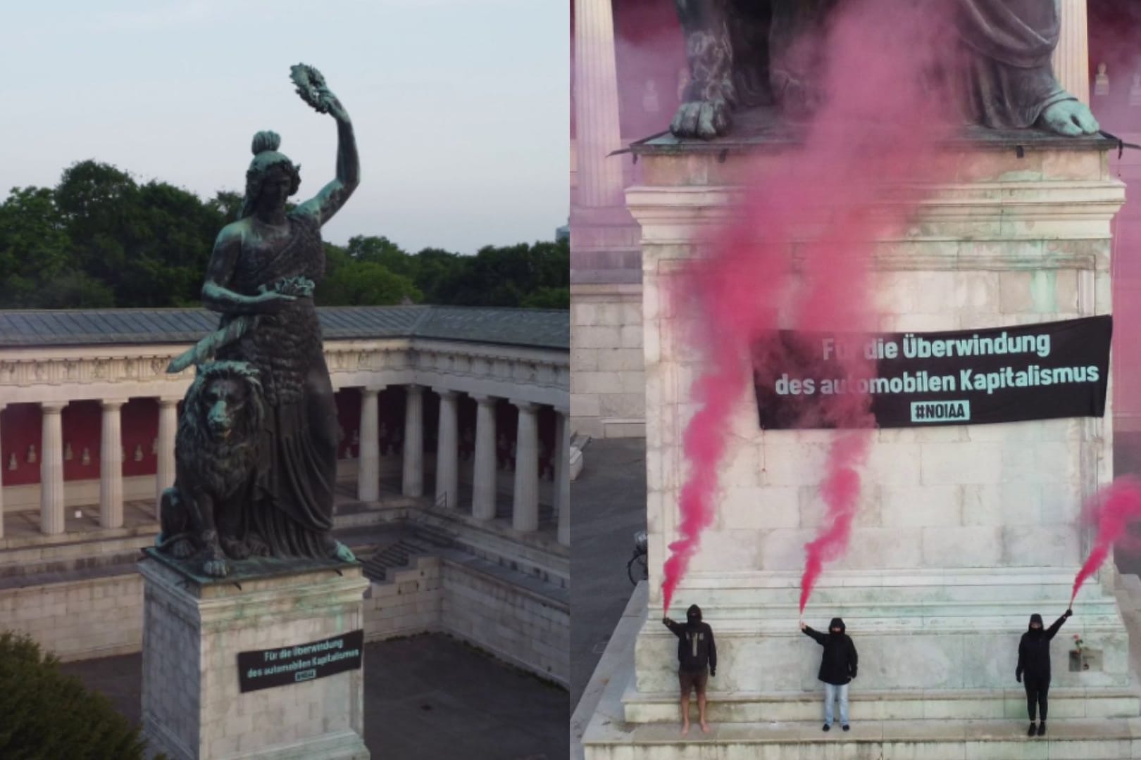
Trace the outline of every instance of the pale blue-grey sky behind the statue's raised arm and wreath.
<instances>
[{"instance_id":1,"label":"pale blue-grey sky behind the statue's raised arm and wreath","mask_svg":"<svg viewBox=\"0 0 1141 760\"><path fill-rule=\"evenodd\" d=\"M293 92L325 75L362 182L324 236L408 251L553 239L569 211L566 0L38 0L0 8L0 197L96 158L201 197L241 191L260 129L333 178L337 129Z\"/></svg>"}]
</instances>

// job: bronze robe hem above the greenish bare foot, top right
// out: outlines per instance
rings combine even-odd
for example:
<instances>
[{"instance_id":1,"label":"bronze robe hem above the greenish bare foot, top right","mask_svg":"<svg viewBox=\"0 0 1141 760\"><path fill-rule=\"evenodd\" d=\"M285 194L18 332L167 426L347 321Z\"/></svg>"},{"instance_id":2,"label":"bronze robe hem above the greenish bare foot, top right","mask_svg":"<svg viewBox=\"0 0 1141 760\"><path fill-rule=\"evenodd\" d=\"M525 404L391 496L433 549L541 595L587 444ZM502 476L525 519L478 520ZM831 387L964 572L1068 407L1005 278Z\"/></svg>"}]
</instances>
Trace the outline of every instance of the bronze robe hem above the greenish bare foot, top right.
<instances>
[{"instance_id":1,"label":"bronze robe hem above the greenish bare foot, top right","mask_svg":"<svg viewBox=\"0 0 1141 760\"><path fill-rule=\"evenodd\" d=\"M962 103L971 122L1025 129L1042 112L1073 100L1050 63L1060 19L1054 0L956 0L958 38L971 55Z\"/></svg>"}]
</instances>

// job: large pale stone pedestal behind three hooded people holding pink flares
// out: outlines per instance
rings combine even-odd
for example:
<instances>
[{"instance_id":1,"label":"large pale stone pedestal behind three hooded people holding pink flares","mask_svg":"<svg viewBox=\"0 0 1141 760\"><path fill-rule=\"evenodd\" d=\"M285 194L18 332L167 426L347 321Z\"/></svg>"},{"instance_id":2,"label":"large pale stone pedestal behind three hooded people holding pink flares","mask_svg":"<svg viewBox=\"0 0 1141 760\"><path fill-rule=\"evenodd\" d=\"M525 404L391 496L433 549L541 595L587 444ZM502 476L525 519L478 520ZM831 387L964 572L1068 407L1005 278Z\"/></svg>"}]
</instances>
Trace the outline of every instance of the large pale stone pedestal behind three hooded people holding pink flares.
<instances>
[{"instance_id":1,"label":"large pale stone pedestal behind three hooded people holding pink flares","mask_svg":"<svg viewBox=\"0 0 1141 760\"><path fill-rule=\"evenodd\" d=\"M662 566L678 538L688 469L682 441L697 409L688 391L702 367L681 341L666 281L699 253L691 240L739 213L746 171L768 165L741 154L790 149L764 138L729 142L650 141L641 148L646 183L626 193L642 230L649 602L621 716L597 730L592 724L583 739L588 760L626 757L617 747L657 736L640 727L678 719L677 640L661 623ZM1124 186L1108 171L1109 147L1098 138L981 130L947 146L956 174L922 203L906 230L874 242L880 329L971 329L1111 313L1110 220ZM742 724L722 732L725 741L714 737L725 746L702 757L756 757L761 739L753 733L769 721L811 721L819 735L820 653L799 630L798 598L803 546L823 521L818 489L832 433L762 431L756 420L750 391L736 401L728 431L718 516L671 607L678 616L691 603L702 606L718 643L711 719ZM1030 613L1041 612L1049 624L1066 610L1089 549L1090 536L1077 528L1082 504L1112 479L1111 428L1107 404L1098 419L869 433L850 549L825 567L806 611L817 629L844 618L859 648L853 724L1025 721L1013 679L1018 639ZM1068 738L1093 741L1112 721L1132 718L1112 729L1131 736L1141 703L1108 565L1086 583L1074 611L1053 646L1051 724L1091 720ZM1069 670L1074 634L1102 653L1101 670ZM615 717L623 721L617 728ZM883 746L868 751L889 757L888 724L881 729ZM944 736L922 757L964 757L966 738L990 741ZM763 742L764 757L817 757L798 754L795 742L787 752L772 745L779 744L772 736ZM976 747L977 757L1006 757L992 749L998 753ZM697 755L663 744L645 757ZM968 749L965 757L976 755Z\"/></svg>"}]
</instances>

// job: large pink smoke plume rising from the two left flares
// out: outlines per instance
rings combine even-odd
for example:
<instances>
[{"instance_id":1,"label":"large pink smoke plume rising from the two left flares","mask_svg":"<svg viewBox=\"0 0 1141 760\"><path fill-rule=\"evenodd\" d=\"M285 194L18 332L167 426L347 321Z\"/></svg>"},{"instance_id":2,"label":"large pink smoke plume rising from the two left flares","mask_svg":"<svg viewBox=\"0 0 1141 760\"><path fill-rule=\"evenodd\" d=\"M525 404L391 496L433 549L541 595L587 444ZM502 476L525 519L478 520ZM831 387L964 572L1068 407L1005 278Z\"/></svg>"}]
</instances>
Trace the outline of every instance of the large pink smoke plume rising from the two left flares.
<instances>
[{"instance_id":1,"label":"large pink smoke plume rising from the two left flares","mask_svg":"<svg viewBox=\"0 0 1141 760\"><path fill-rule=\"evenodd\" d=\"M940 44L949 22L932 5L923 3L921 13L914 3L852 2L833 19L824 104L804 125L803 145L758 163L743 207L674 285L672 295L693 321L689 338L703 366L690 389L698 408L683 438L689 472L679 502L680 537L664 566L666 611L702 532L713 522L718 464L738 399L752 373L764 378L787 370L775 330L875 329L871 242L901 230L914 215L923 193L901 187L948 178L936 147L950 128L952 100L931 80L924 88L917 75L950 62ZM778 304L785 307L784 320ZM859 352L843 370L863 377L874 373ZM806 411L825 423L818 426L874 426L866 393L818 398L817 407ZM833 440L820 488L827 514L820 534L806 547L801 610L824 562L847 547L859 498L858 467L871 440L869 431L837 433Z\"/></svg>"}]
</instances>

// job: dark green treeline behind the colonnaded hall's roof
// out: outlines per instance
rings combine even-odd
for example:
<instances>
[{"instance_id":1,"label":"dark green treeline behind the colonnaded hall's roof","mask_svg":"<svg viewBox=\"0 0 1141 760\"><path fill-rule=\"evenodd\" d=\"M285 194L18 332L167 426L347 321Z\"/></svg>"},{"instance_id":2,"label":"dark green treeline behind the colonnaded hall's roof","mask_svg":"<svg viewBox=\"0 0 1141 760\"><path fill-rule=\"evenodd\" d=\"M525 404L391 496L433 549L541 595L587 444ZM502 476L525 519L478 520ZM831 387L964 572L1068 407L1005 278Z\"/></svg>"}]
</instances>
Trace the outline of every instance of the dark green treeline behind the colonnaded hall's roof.
<instances>
[{"instance_id":1,"label":"dark green treeline behind the colonnaded hall's roof","mask_svg":"<svg viewBox=\"0 0 1141 760\"><path fill-rule=\"evenodd\" d=\"M242 201L230 190L202 201L167 182L139 183L97 161L67 167L54 189L14 189L0 204L0 308L197 305L213 240ZM410 255L386 237L357 235L326 244L325 254L322 304L569 303L566 240Z\"/></svg>"}]
</instances>

